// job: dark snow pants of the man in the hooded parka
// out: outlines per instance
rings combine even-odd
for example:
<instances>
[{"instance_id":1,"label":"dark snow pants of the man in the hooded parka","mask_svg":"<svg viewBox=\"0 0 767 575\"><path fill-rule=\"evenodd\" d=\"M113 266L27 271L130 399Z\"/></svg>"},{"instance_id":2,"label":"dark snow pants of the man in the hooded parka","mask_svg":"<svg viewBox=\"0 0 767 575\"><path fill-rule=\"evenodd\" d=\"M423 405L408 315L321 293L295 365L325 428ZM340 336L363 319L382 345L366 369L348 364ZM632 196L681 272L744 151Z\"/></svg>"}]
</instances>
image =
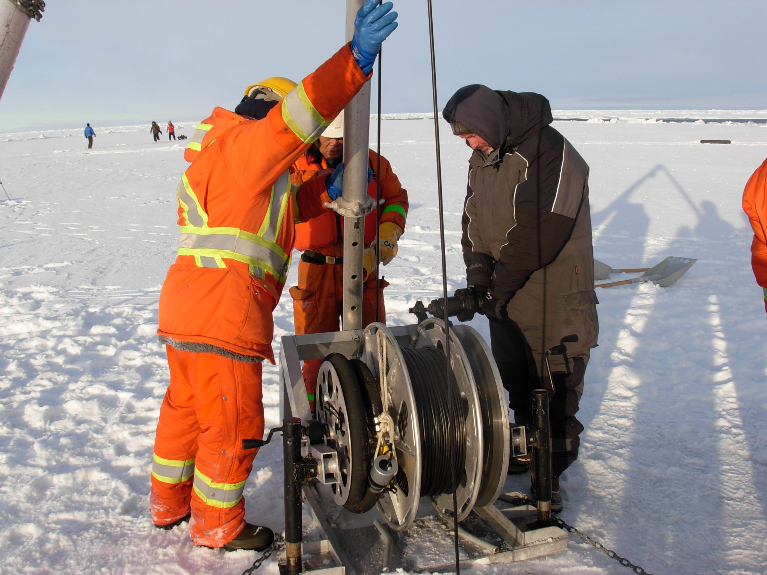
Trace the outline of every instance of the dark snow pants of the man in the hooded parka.
<instances>
[{"instance_id":1,"label":"dark snow pants of the man in the hooded parka","mask_svg":"<svg viewBox=\"0 0 767 575\"><path fill-rule=\"evenodd\" d=\"M509 407L518 425L532 422L532 390L551 389L548 373L538 374L532 349L522 330L512 320L490 320L492 356L498 364L501 381L509 392ZM559 477L578 458L583 426L575 414L583 394L588 351L584 355L567 357L566 371L554 371L554 396L548 400L551 421L551 475Z\"/></svg>"}]
</instances>

